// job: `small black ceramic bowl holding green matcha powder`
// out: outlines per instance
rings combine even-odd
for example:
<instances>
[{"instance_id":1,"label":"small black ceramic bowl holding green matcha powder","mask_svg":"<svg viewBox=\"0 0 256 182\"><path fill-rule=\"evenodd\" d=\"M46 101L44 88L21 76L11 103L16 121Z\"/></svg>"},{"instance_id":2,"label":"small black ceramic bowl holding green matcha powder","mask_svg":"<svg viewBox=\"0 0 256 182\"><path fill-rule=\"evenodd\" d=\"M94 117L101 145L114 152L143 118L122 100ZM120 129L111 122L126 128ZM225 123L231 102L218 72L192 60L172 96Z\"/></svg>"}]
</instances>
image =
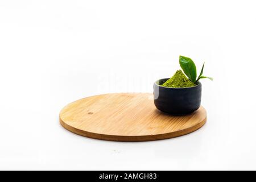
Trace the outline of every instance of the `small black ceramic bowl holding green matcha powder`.
<instances>
[{"instance_id":1,"label":"small black ceramic bowl holding green matcha powder","mask_svg":"<svg viewBox=\"0 0 256 182\"><path fill-rule=\"evenodd\" d=\"M163 78L154 83L154 104L157 109L174 115L189 114L199 109L202 90L200 82L188 88L160 86L167 80Z\"/></svg>"}]
</instances>

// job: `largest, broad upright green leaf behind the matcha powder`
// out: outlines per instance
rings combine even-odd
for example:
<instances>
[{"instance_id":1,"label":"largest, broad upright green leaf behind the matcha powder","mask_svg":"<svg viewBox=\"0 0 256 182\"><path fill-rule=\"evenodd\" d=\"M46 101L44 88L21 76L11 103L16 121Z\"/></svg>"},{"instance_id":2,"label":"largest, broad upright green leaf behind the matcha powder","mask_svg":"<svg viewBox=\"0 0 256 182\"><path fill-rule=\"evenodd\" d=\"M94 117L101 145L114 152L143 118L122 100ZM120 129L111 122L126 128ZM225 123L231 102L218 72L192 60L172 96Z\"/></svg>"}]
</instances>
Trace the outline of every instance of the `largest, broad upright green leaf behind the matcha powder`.
<instances>
[{"instance_id":1,"label":"largest, broad upright green leaf behind the matcha powder","mask_svg":"<svg viewBox=\"0 0 256 182\"><path fill-rule=\"evenodd\" d=\"M180 56L180 67L192 82L196 82L196 65L192 59Z\"/></svg>"}]
</instances>

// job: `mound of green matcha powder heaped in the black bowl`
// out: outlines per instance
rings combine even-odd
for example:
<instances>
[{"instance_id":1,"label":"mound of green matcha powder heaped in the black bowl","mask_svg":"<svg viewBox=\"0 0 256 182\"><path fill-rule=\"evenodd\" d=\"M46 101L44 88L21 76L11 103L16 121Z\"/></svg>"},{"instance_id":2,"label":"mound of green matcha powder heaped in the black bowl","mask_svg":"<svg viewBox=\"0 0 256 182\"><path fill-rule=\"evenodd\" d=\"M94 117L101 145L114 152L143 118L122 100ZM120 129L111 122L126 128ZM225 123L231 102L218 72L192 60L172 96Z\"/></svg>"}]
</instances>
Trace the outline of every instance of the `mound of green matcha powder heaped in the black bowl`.
<instances>
[{"instance_id":1,"label":"mound of green matcha powder heaped in the black bowl","mask_svg":"<svg viewBox=\"0 0 256 182\"><path fill-rule=\"evenodd\" d=\"M181 70L176 71L174 76L172 76L169 80L164 82L164 84L160 86L172 87L172 88L184 88L196 86L193 82L191 82Z\"/></svg>"}]
</instances>

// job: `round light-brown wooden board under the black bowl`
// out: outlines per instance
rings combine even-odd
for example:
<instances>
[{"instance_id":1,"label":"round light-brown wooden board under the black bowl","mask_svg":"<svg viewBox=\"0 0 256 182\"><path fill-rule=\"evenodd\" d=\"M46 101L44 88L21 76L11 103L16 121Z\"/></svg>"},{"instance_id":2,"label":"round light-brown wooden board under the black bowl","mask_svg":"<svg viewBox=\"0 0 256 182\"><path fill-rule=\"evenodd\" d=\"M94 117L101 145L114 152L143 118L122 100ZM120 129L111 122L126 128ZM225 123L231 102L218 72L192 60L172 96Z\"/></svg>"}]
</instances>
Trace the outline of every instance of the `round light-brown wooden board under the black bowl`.
<instances>
[{"instance_id":1,"label":"round light-brown wooden board under the black bowl","mask_svg":"<svg viewBox=\"0 0 256 182\"><path fill-rule=\"evenodd\" d=\"M174 116L156 109L150 93L113 93L86 97L60 111L61 125L73 133L102 140L148 141L178 137L207 120L204 107Z\"/></svg>"}]
</instances>

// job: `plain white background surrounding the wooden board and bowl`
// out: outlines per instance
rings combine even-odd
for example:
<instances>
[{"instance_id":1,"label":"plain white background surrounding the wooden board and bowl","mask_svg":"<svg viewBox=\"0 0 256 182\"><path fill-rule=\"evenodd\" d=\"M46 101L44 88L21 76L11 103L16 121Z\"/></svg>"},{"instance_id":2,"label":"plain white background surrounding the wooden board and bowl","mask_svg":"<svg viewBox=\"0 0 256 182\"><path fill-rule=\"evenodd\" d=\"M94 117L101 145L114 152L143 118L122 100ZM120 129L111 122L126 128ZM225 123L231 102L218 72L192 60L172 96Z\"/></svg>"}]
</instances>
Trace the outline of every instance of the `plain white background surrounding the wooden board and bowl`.
<instances>
[{"instance_id":1,"label":"plain white background surrounding the wooden board and bowl","mask_svg":"<svg viewBox=\"0 0 256 182\"><path fill-rule=\"evenodd\" d=\"M0 1L0 169L256 169L255 1ZM152 92L205 61L205 126L108 142L60 126L83 97Z\"/></svg>"}]
</instances>

